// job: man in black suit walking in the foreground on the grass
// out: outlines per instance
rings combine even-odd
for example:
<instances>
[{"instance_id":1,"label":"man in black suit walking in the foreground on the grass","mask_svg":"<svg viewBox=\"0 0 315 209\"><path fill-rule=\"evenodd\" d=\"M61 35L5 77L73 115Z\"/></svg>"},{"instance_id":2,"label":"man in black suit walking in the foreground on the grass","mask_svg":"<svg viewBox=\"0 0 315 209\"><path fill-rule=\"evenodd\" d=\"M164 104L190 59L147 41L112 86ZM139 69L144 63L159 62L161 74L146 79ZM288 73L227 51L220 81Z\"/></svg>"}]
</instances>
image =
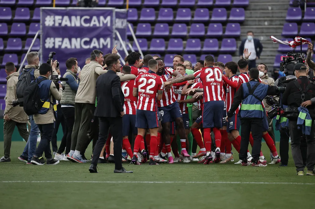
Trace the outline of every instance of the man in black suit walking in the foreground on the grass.
<instances>
[{"instance_id":1,"label":"man in black suit walking in the foreground on the grass","mask_svg":"<svg viewBox=\"0 0 315 209\"><path fill-rule=\"evenodd\" d=\"M132 173L122 167L122 141L123 141L123 104L124 95L120 88L120 78L116 74L120 72L120 56L112 54L106 57L107 73L104 73L96 80L97 107L94 115L99 118L100 132L93 152L90 173L98 173L97 162L100 158L102 148L106 143L108 131L112 133L114 140L114 173Z\"/></svg>"}]
</instances>

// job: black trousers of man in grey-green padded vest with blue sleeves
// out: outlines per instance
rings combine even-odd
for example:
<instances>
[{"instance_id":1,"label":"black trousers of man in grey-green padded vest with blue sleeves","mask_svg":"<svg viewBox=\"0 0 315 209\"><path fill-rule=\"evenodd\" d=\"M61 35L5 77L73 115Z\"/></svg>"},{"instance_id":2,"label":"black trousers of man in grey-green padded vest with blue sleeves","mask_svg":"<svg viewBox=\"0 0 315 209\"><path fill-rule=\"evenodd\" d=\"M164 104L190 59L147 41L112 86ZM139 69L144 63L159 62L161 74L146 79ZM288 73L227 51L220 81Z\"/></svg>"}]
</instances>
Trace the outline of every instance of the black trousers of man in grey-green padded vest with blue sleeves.
<instances>
[{"instance_id":1,"label":"black trousers of man in grey-green padded vest with blue sleeves","mask_svg":"<svg viewBox=\"0 0 315 209\"><path fill-rule=\"evenodd\" d=\"M66 131L63 134L57 153L61 154L66 149L65 154L68 154L70 152L71 135L72 135L72 129L73 129L73 124L74 124L74 107L62 107L61 110L65 117Z\"/></svg>"}]
</instances>

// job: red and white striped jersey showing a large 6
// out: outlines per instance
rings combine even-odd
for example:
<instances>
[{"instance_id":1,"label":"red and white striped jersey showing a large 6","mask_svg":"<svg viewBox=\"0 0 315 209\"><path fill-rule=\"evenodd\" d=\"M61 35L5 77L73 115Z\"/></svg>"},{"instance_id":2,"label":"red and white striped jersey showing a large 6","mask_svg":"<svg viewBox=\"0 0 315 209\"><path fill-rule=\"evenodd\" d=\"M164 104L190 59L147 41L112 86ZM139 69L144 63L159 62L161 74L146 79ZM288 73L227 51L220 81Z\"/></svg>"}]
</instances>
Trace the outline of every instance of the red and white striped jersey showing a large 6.
<instances>
[{"instance_id":1,"label":"red and white striped jersey showing a large 6","mask_svg":"<svg viewBox=\"0 0 315 209\"><path fill-rule=\"evenodd\" d=\"M135 81L123 81L120 82L121 90L123 91L123 95L125 96L125 102L123 104L123 111L128 115L136 114L136 106L137 106L137 98L132 95L132 91L134 88Z\"/></svg>"}]
</instances>

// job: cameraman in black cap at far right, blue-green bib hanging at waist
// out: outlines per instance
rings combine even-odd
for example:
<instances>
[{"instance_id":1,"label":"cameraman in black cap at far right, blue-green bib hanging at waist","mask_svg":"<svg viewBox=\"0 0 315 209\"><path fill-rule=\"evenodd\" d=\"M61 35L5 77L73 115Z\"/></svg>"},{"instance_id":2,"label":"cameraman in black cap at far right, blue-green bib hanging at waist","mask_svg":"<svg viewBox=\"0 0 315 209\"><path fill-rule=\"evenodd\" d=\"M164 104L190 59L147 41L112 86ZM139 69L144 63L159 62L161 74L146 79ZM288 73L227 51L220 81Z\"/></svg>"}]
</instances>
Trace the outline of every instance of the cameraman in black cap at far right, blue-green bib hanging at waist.
<instances>
[{"instance_id":1,"label":"cameraman in black cap at far right, blue-green bib hanging at waist","mask_svg":"<svg viewBox=\"0 0 315 209\"><path fill-rule=\"evenodd\" d=\"M306 175L315 175L315 138L314 138L314 107L315 105L301 107L304 101L311 100L315 97L315 85L307 78L306 66L298 63L294 66L296 81L289 82L286 85L285 92L282 96L282 104L288 105L289 108L298 108L289 118L289 130L291 137L291 149L297 175L304 175L304 164L300 149L301 137L305 131L307 144ZM300 113L300 114L299 114ZM301 118L301 115L307 115L309 118ZM305 120L305 126L301 129L297 125L298 120ZM309 121L309 122L308 122ZM308 132L309 131L309 132Z\"/></svg>"}]
</instances>

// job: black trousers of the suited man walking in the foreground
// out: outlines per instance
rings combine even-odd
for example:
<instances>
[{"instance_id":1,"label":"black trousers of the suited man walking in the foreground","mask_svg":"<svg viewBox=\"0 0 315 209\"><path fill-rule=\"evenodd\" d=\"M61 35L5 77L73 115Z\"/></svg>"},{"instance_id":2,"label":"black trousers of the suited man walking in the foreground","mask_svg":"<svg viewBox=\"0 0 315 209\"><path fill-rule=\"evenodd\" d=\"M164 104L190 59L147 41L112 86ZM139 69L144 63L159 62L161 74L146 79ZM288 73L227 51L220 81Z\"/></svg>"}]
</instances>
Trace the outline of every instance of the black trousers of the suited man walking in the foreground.
<instances>
[{"instance_id":1,"label":"black trousers of the suited man walking in the foreground","mask_svg":"<svg viewBox=\"0 0 315 209\"><path fill-rule=\"evenodd\" d=\"M99 117L100 132L97 140L92 164L95 166L100 158L100 153L106 143L108 132L111 132L114 142L115 169L122 168L122 143L123 143L123 118L122 117Z\"/></svg>"}]
</instances>

